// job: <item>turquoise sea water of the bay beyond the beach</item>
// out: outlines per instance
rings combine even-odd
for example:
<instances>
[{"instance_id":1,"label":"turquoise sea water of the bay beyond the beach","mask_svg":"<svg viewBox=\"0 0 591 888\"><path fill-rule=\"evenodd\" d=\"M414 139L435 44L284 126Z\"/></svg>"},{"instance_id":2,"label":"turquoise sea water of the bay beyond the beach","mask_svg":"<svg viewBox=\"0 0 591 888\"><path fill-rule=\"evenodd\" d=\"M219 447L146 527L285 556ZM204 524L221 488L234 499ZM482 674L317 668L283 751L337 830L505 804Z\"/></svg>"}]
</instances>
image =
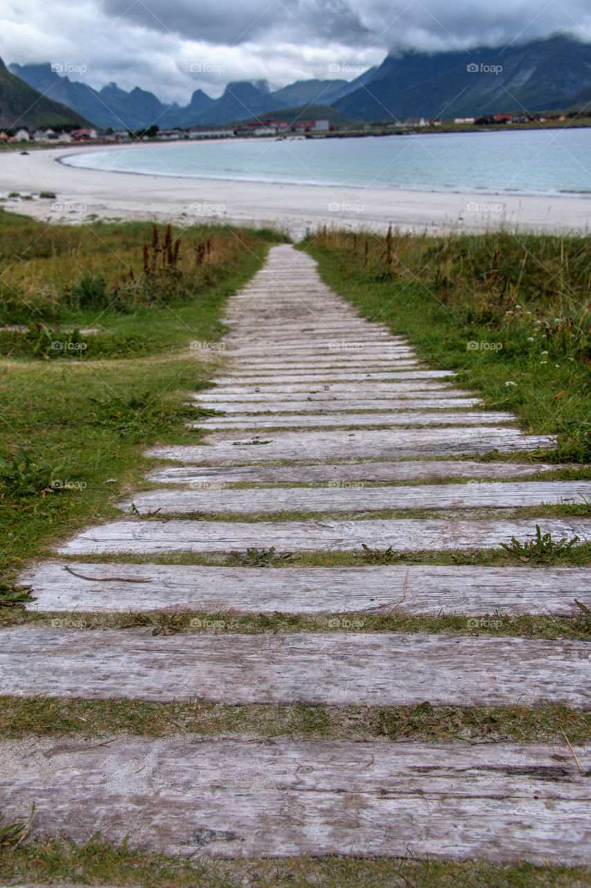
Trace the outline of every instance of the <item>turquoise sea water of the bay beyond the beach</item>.
<instances>
[{"instance_id":1,"label":"turquoise sea water of the bay beyond the beach","mask_svg":"<svg viewBox=\"0 0 591 888\"><path fill-rule=\"evenodd\" d=\"M63 163L285 185L591 196L591 129L151 143Z\"/></svg>"}]
</instances>

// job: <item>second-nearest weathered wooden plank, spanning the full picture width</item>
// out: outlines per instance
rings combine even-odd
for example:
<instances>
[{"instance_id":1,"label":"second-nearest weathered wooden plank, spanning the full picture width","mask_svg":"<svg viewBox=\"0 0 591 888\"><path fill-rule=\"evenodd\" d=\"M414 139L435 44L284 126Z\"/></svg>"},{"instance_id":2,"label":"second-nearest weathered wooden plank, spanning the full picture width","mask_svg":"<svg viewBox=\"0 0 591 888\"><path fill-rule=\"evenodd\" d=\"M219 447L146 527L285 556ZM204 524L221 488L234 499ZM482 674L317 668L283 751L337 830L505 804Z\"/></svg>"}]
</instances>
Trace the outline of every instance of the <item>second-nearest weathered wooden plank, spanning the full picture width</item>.
<instances>
[{"instance_id":1,"label":"second-nearest weathered wooden plank, spanning the full picture width","mask_svg":"<svg viewBox=\"0 0 591 888\"><path fill-rule=\"evenodd\" d=\"M584 641L498 635L0 630L0 693L225 703L591 705Z\"/></svg>"}]
</instances>

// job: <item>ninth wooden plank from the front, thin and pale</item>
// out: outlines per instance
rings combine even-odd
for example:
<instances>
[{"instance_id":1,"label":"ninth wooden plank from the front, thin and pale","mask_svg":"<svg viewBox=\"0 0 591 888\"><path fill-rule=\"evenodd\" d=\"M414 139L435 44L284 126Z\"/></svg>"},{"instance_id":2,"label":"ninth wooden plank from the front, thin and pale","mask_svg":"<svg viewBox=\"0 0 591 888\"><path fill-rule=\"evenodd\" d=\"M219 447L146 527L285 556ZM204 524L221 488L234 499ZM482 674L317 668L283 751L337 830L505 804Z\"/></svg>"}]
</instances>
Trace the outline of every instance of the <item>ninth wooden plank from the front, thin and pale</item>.
<instances>
[{"instance_id":1,"label":"ninth wooden plank from the front, thin and pale","mask_svg":"<svg viewBox=\"0 0 591 888\"><path fill-rule=\"evenodd\" d=\"M338 413L343 410L420 410L420 409L455 409L465 407L477 407L482 403L479 398L450 398L445 392L445 397L435 397L432 394L421 392L421 398L399 398L398 400L351 400L343 398L336 400L248 400L235 398L234 400L204 400L200 395L193 396L193 400L203 407L221 410L224 413Z\"/></svg>"}]
</instances>

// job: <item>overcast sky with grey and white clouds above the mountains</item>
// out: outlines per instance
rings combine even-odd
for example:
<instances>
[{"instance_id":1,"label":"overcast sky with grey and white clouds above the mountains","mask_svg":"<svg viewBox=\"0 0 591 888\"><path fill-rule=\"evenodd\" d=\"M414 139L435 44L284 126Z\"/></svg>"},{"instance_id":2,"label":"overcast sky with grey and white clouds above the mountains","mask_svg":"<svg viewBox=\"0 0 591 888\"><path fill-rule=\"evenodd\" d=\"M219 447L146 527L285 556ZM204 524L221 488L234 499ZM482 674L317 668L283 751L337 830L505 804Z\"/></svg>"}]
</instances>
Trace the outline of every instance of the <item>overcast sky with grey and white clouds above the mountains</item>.
<instances>
[{"instance_id":1,"label":"overcast sky with grey and white clouds above the mountains","mask_svg":"<svg viewBox=\"0 0 591 888\"><path fill-rule=\"evenodd\" d=\"M232 80L272 89L351 80L389 50L520 43L556 31L591 41L589 0L3 0L6 64L49 61L71 80L115 81L186 105Z\"/></svg>"}]
</instances>

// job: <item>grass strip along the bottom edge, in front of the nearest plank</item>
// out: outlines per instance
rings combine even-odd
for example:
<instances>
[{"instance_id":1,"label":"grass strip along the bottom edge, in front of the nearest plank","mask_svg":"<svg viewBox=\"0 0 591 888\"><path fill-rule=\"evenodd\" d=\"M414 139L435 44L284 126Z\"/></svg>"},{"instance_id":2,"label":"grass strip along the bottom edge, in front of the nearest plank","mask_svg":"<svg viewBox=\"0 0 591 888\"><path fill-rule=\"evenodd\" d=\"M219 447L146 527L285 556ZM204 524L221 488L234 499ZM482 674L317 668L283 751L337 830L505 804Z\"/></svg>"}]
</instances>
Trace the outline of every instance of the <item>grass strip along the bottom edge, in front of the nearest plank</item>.
<instances>
[{"instance_id":1,"label":"grass strip along the bottom edge, in front of the nearest plank","mask_svg":"<svg viewBox=\"0 0 591 888\"><path fill-rule=\"evenodd\" d=\"M520 862L494 866L445 859L362 860L353 856L273 860L170 857L92 836L87 842L43 839L0 856L0 877L67 884L141 885L143 888L582 888L591 871L561 864Z\"/></svg>"}]
</instances>

